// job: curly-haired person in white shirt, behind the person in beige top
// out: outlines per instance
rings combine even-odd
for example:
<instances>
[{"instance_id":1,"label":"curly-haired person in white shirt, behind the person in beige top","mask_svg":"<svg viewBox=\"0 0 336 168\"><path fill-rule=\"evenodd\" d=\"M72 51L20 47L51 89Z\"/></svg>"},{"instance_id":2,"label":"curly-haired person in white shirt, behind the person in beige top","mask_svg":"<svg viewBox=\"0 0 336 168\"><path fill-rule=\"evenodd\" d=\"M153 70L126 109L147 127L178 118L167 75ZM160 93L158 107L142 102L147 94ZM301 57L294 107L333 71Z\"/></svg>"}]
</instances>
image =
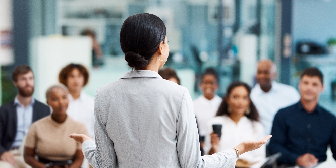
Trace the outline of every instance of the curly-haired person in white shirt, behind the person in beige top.
<instances>
[{"instance_id":1,"label":"curly-haired person in white shirt, behind the person in beige top","mask_svg":"<svg viewBox=\"0 0 336 168\"><path fill-rule=\"evenodd\" d=\"M80 64L69 64L59 74L59 82L69 90L67 115L86 125L94 139L94 98L83 91L89 81L89 72Z\"/></svg>"}]
</instances>

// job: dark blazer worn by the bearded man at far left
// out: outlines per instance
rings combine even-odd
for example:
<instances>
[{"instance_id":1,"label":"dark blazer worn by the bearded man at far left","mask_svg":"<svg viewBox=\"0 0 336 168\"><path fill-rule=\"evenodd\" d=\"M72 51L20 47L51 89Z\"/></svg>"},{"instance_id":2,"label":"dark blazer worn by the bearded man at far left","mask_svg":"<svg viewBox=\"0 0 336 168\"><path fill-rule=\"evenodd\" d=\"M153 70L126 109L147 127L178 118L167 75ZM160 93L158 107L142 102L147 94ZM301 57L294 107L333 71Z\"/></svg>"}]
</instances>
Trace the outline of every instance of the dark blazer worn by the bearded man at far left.
<instances>
[{"instance_id":1,"label":"dark blazer worn by the bearded man at far left","mask_svg":"<svg viewBox=\"0 0 336 168\"><path fill-rule=\"evenodd\" d=\"M49 116L50 107L37 101L33 105L33 123ZM14 100L0 107L0 155L9 151L17 132L17 113Z\"/></svg>"}]
</instances>

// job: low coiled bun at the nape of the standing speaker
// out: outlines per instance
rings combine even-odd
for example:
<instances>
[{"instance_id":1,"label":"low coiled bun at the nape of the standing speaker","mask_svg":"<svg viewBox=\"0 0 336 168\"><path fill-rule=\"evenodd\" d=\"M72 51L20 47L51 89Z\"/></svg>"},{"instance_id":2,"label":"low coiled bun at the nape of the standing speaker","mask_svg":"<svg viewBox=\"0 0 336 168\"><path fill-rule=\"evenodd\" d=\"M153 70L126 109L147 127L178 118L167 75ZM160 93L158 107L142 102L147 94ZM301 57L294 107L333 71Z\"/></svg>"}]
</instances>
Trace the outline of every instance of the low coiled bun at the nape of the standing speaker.
<instances>
[{"instance_id":1,"label":"low coiled bun at the nape of the standing speaker","mask_svg":"<svg viewBox=\"0 0 336 168\"><path fill-rule=\"evenodd\" d=\"M140 54L133 51L125 53L125 60L127 61L128 66L136 69L143 68L149 64L149 60L146 60Z\"/></svg>"}]
</instances>

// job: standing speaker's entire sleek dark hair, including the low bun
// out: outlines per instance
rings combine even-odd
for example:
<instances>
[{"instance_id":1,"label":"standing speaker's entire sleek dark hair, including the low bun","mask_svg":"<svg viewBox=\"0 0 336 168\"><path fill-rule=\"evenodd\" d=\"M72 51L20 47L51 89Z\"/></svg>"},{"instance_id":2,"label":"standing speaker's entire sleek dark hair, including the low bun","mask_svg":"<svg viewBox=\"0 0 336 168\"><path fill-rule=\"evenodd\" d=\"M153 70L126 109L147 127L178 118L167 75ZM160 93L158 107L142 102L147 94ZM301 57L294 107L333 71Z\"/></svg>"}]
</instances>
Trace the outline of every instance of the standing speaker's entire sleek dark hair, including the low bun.
<instances>
[{"instance_id":1,"label":"standing speaker's entire sleek dark hair, including the low bun","mask_svg":"<svg viewBox=\"0 0 336 168\"><path fill-rule=\"evenodd\" d=\"M136 70L147 66L161 42L166 28L153 14L135 14L128 17L120 30L120 46L128 65Z\"/></svg>"}]
</instances>

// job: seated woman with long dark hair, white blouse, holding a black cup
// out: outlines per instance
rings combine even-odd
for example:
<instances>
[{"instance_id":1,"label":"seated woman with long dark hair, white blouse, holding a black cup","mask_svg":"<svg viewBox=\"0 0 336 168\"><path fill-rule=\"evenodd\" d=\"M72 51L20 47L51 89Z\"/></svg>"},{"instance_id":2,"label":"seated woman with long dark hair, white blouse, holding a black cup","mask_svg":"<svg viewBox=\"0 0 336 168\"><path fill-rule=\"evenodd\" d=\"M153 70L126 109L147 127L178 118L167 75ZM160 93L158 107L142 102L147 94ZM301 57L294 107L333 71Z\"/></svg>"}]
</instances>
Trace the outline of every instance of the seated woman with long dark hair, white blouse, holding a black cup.
<instances>
[{"instance_id":1,"label":"seated woman with long dark hair, white blouse, holding a black cup","mask_svg":"<svg viewBox=\"0 0 336 168\"><path fill-rule=\"evenodd\" d=\"M264 128L259 122L259 114L250 100L251 88L243 82L229 85L216 117L208 122L205 152L209 155L233 148L241 141L257 140L264 137ZM221 137L212 131L212 125L222 125ZM238 163L249 165L266 157L265 145L239 157ZM238 166L236 164L236 166ZM246 165L246 164L245 164ZM245 166L244 166L245 167Z\"/></svg>"}]
</instances>

